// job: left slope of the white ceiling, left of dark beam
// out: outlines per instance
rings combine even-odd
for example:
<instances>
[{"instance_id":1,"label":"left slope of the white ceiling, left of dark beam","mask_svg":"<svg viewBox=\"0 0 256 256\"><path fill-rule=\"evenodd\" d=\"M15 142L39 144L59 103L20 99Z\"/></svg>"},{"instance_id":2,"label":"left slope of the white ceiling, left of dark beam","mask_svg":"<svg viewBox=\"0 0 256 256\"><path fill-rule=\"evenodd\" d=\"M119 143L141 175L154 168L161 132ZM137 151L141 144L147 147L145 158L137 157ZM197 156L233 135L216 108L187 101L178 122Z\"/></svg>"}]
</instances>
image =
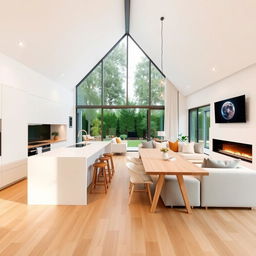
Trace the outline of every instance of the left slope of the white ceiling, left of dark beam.
<instances>
[{"instance_id":1,"label":"left slope of the white ceiling, left of dark beam","mask_svg":"<svg viewBox=\"0 0 256 256\"><path fill-rule=\"evenodd\" d=\"M123 34L122 0L0 0L0 52L67 88Z\"/></svg>"}]
</instances>

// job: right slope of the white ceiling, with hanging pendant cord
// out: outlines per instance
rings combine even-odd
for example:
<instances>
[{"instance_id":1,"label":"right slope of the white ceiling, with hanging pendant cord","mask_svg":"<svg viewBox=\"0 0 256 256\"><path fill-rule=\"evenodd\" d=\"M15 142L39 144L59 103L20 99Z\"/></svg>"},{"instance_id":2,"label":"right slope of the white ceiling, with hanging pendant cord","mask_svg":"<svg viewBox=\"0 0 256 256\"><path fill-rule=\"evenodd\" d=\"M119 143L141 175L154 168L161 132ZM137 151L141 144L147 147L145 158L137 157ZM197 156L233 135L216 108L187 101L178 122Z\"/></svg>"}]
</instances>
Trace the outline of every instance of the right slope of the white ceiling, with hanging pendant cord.
<instances>
[{"instance_id":1,"label":"right slope of the white ceiling, with hanging pendant cord","mask_svg":"<svg viewBox=\"0 0 256 256\"><path fill-rule=\"evenodd\" d=\"M160 66L165 17L164 73L188 95L256 63L255 12L255 0L133 0L131 35Z\"/></svg>"}]
</instances>

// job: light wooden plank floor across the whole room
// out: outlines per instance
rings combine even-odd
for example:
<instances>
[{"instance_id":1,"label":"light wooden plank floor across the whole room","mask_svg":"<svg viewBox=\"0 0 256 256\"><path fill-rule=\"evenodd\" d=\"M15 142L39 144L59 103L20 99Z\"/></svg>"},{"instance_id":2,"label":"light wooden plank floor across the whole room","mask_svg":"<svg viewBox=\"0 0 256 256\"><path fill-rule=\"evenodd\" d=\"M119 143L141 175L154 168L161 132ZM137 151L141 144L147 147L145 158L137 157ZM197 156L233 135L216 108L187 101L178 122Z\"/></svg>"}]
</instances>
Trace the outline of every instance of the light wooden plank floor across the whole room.
<instances>
[{"instance_id":1,"label":"light wooden plank floor across the whole room","mask_svg":"<svg viewBox=\"0 0 256 256\"><path fill-rule=\"evenodd\" d=\"M26 181L0 191L0 255L256 255L256 211L165 208L128 201L125 157L107 195L87 206L28 206Z\"/></svg>"}]
</instances>

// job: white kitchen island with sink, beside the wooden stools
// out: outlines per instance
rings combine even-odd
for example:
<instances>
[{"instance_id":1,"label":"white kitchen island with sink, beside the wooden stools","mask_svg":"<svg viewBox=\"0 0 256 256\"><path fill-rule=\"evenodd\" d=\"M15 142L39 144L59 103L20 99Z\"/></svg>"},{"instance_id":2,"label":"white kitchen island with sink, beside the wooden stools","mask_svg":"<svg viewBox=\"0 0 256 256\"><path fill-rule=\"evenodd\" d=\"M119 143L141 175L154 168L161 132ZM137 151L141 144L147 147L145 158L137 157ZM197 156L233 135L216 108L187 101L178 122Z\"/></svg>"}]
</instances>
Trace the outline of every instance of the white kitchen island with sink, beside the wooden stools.
<instances>
[{"instance_id":1,"label":"white kitchen island with sink, beside the wooden stools","mask_svg":"<svg viewBox=\"0 0 256 256\"><path fill-rule=\"evenodd\" d=\"M86 205L92 165L110 141L79 143L28 158L28 204Z\"/></svg>"}]
</instances>

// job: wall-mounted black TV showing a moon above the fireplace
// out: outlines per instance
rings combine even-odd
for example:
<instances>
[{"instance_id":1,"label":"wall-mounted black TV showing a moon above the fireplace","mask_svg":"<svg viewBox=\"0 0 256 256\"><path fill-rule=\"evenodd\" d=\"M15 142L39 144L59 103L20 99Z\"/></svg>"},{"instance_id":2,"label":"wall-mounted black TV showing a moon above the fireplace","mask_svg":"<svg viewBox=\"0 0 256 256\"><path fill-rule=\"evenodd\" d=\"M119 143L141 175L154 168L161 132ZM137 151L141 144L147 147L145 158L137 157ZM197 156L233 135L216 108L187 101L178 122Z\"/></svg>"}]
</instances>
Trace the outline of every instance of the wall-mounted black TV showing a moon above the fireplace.
<instances>
[{"instance_id":1,"label":"wall-mounted black TV showing a moon above the fireplace","mask_svg":"<svg viewBox=\"0 0 256 256\"><path fill-rule=\"evenodd\" d=\"M216 123L245 123L245 95L214 103Z\"/></svg>"}]
</instances>

